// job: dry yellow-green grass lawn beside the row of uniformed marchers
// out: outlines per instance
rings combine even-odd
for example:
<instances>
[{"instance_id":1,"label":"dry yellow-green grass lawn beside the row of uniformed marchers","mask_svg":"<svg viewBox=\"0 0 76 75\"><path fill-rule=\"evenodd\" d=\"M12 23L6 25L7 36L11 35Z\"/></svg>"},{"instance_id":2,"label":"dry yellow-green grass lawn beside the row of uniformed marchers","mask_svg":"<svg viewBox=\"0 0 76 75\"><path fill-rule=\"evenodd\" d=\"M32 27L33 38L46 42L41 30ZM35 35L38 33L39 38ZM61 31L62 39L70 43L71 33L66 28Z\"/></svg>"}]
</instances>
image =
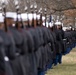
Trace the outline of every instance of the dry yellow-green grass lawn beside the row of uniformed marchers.
<instances>
[{"instance_id":1,"label":"dry yellow-green grass lawn beside the row of uniformed marchers","mask_svg":"<svg viewBox=\"0 0 76 75\"><path fill-rule=\"evenodd\" d=\"M76 48L63 56L63 63L48 70L46 75L76 75Z\"/></svg>"}]
</instances>

